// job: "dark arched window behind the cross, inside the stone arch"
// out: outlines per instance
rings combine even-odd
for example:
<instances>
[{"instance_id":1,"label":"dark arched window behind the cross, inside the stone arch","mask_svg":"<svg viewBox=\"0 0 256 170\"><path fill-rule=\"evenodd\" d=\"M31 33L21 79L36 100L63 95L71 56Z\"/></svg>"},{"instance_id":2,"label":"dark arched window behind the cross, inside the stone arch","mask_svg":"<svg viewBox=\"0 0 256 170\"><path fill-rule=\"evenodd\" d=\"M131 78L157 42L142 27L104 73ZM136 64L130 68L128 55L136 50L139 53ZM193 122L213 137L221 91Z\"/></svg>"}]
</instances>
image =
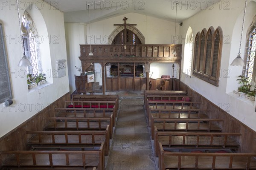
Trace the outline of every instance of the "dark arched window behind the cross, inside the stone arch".
<instances>
[{"instance_id":1,"label":"dark arched window behind the cross, inside the stone arch","mask_svg":"<svg viewBox=\"0 0 256 170\"><path fill-rule=\"evenodd\" d=\"M125 30L123 29L120 31L114 40L112 41L112 44L141 44L139 37L132 32L131 30L126 29L126 42L124 43L125 36Z\"/></svg>"}]
</instances>

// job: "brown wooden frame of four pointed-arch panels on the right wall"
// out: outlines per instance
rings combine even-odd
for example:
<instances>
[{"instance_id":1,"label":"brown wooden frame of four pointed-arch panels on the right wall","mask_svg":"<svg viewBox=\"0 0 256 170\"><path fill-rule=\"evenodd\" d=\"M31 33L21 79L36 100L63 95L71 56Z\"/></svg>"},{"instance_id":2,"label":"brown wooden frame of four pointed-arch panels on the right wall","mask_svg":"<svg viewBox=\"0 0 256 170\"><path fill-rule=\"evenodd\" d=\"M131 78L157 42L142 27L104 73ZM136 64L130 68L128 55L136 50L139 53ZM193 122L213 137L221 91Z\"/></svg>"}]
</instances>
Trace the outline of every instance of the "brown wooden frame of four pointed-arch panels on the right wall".
<instances>
[{"instance_id":1,"label":"brown wooden frame of four pointed-arch panels on the right wall","mask_svg":"<svg viewBox=\"0 0 256 170\"><path fill-rule=\"evenodd\" d=\"M201 36L197 34L195 38L194 67L192 73L195 77L217 87L219 82L222 42L223 34L221 27L218 27L216 31L214 31L213 27L210 27L207 33L204 28L201 32Z\"/></svg>"}]
</instances>

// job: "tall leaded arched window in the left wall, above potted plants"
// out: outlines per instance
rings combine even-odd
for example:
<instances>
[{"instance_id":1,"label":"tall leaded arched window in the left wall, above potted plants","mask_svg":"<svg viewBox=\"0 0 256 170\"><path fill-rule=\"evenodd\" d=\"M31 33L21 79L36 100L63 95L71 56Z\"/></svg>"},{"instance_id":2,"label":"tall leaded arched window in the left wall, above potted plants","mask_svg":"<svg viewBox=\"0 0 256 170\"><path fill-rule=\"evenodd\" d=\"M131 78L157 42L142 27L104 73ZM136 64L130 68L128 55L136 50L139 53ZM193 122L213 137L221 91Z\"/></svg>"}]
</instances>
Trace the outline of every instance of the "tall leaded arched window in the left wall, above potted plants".
<instances>
[{"instance_id":1,"label":"tall leaded arched window in the left wall, above potted plants","mask_svg":"<svg viewBox=\"0 0 256 170\"><path fill-rule=\"evenodd\" d=\"M27 11L22 16L22 38L26 57L30 60L32 66L27 67L27 74L36 75L41 73L41 56L39 44L37 43L38 32L35 23Z\"/></svg>"}]
</instances>

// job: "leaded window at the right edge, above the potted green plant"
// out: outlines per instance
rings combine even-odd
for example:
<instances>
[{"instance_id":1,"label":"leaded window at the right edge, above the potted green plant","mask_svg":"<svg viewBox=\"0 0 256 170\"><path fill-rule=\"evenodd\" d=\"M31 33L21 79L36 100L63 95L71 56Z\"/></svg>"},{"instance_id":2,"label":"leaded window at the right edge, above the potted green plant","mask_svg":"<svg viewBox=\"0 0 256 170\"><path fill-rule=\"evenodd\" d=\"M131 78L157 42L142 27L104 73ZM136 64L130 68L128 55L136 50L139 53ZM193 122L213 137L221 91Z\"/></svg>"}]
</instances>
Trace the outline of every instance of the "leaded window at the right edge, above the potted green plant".
<instances>
[{"instance_id":1,"label":"leaded window at the right edge, above the potted green plant","mask_svg":"<svg viewBox=\"0 0 256 170\"><path fill-rule=\"evenodd\" d=\"M253 66L255 62L255 53L256 53L256 28L249 35L249 48L247 53L246 61L246 71L245 76L249 78L249 83L252 82L253 78Z\"/></svg>"}]
</instances>

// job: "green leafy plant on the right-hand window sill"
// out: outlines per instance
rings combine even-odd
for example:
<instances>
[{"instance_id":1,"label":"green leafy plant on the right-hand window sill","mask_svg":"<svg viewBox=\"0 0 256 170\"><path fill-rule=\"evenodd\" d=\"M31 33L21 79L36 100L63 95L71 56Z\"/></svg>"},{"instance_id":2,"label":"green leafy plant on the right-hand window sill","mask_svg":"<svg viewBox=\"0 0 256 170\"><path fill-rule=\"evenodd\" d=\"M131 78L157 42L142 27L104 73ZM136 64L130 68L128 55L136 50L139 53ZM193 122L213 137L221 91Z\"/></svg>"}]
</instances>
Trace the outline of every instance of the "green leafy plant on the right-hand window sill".
<instances>
[{"instance_id":1,"label":"green leafy plant on the right-hand window sill","mask_svg":"<svg viewBox=\"0 0 256 170\"><path fill-rule=\"evenodd\" d=\"M239 84L241 84L241 86L238 88L238 91L247 94L247 96L255 96L256 88L254 88L253 91L250 90L251 84L249 82L249 78L245 76L239 77L240 79L237 79L237 81L239 81Z\"/></svg>"}]
</instances>

